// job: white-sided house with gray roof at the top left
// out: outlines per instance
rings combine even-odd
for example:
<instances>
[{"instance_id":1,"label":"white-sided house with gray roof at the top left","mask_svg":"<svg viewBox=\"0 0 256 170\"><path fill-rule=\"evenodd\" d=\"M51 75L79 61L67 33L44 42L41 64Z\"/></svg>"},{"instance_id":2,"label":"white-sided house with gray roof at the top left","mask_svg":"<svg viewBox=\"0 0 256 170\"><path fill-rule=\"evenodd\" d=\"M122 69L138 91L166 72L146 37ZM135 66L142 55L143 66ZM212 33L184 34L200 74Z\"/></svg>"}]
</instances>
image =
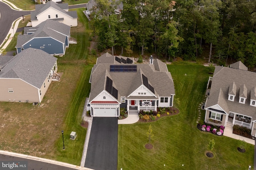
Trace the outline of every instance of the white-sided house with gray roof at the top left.
<instances>
[{"instance_id":1,"label":"white-sided house with gray roof at the top left","mask_svg":"<svg viewBox=\"0 0 256 170\"><path fill-rule=\"evenodd\" d=\"M36 4L36 10L31 11L32 27L36 27L45 20L55 20L71 27L77 26L77 12L68 11L68 4L57 4L49 1L45 4Z\"/></svg>"}]
</instances>

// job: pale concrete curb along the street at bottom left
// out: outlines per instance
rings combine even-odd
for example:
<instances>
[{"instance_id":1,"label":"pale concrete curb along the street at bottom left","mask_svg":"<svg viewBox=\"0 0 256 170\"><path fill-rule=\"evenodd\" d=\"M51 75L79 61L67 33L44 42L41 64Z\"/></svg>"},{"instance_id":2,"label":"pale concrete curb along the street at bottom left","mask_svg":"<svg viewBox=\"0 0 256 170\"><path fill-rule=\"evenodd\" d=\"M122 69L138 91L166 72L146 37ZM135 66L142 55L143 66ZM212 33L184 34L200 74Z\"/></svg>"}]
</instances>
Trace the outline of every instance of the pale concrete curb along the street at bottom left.
<instances>
[{"instance_id":1,"label":"pale concrete curb along the street at bottom left","mask_svg":"<svg viewBox=\"0 0 256 170\"><path fill-rule=\"evenodd\" d=\"M40 162L46 162L46 163L49 163L49 164L65 166L65 167L74 168L74 169L77 169L77 170L92 170L90 168L84 168L84 167L81 167L81 166L78 166L78 165L68 164L68 163L65 163L65 162L59 162L59 161L56 161L56 160L50 160L50 159L46 159L46 158L39 158L39 157L36 157L36 156L30 156L30 155L25 155L25 154L8 152L8 151L4 151L4 150L0 150L0 154L16 156L16 157L19 157L19 158L36 160L36 161L40 161Z\"/></svg>"}]
</instances>

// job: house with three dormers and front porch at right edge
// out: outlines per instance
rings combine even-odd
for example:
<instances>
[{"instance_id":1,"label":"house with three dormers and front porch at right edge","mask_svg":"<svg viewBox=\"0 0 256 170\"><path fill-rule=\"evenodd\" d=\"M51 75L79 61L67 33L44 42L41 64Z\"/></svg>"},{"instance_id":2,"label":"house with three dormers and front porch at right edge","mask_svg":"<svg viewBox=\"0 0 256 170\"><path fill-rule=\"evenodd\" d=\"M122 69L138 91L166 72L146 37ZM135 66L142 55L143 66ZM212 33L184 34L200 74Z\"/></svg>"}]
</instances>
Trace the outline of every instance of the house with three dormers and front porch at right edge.
<instances>
[{"instance_id":1,"label":"house with three dormers and front porch at right edge","mask_svg":"<svg viewBox=\"0 0 256 170\"><path fill-rule=\"evenodd\" d=\"M206 123L240 125L256 134L256 73L238 61L230 68L216 66L208 82Z\"/></svg>"}]
</instances>

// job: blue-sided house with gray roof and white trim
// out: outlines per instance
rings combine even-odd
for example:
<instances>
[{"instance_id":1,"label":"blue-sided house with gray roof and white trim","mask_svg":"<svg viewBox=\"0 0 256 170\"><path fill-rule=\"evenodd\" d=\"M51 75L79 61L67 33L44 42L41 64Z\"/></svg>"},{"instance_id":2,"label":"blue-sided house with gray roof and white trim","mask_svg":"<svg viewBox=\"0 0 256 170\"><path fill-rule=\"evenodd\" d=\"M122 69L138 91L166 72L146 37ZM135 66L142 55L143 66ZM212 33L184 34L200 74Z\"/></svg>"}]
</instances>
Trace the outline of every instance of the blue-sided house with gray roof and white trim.
<instances>
[{"instance_id":1,"label":"blue-sided house with gray roof and white trim","mask_svg":"<svg viewBox=\"0 0 256 170\"><path fill-rule=\"evenodd\" d=\"M24 27L24 34L18 35L16 49L36 48L51 55L64 55L66 47L76 40L70 37L70 26L58 21L46 20L37 27Z\"/></svg>"}]
</instances>

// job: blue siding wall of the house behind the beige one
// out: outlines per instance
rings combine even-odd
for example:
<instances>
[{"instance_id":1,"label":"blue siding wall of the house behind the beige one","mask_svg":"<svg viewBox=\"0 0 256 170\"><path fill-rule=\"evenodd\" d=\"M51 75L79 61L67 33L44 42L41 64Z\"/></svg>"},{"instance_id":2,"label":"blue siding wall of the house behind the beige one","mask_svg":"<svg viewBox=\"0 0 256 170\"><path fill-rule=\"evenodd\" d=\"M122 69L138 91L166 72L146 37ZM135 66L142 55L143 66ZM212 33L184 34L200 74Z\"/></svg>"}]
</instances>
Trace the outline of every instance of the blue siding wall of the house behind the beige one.
<instances>
[{"instance_id":1,"label":"blue siding wall of the house behind the beige one","mask_svg":"<svg viewBox=\"0 0 256 170\"><path fill-rule=\"evenodd\" d=\"M30 46L31 45L31 46ZM42 51L45 51L48 54L54 55L55 54L64 54L63 51L63 44L59 41L56 41L55 39L52 39L51 37L47 38L34 38L25 45L23 45L22 48L28 49L28 48L35 48L40 49ZM41 49L40 47L44 47ZM65 48L65 45L64 45ZM21 48L17 48L17 52L21 52Z\"/></svg>"}]
</instances>

